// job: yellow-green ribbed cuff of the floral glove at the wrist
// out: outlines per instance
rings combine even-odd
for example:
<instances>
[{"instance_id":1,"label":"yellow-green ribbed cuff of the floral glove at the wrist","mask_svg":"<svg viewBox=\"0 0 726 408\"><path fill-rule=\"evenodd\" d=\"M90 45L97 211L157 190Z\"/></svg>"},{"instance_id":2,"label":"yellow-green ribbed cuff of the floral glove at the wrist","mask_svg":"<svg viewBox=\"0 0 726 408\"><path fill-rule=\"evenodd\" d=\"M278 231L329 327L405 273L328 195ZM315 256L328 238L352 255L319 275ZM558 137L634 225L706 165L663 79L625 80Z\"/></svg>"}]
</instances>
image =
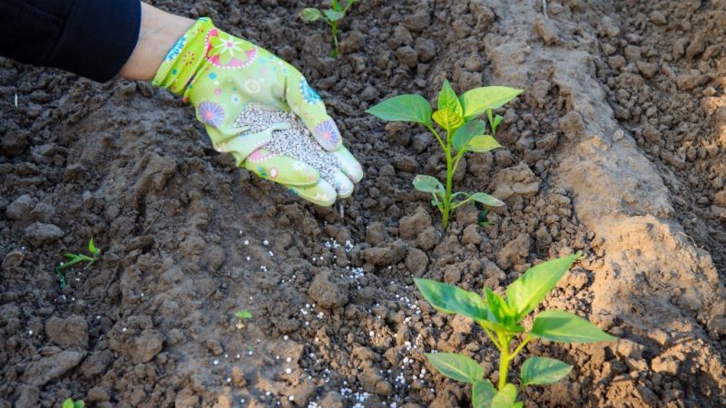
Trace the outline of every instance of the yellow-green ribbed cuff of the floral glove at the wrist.
<instances>
[{"instance_id":1,"label":"yellow-green ribbed cuff of the floral glove at the wrist","mask_svg":"<svg viewBox=\"0 0 726 408\"><path fill-rule=\"evenodd\" d=\"M197 20L166 54L152 84L177 95L183 94L184 100L188 100L187 93L204 63L207 34L214 28L208 17Z\"/></svg>"}]
</instances>

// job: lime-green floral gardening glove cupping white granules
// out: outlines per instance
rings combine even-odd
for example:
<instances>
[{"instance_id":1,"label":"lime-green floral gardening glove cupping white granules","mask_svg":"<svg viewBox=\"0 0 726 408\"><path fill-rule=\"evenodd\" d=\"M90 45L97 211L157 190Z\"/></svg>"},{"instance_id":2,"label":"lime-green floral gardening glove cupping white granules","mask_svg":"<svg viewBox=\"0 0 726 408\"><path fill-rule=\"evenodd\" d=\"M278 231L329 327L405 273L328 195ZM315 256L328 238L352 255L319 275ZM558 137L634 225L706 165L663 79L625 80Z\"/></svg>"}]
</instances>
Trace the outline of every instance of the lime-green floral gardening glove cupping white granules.
<instances>
[{"instance_id":1,"label":"lime-green floral gardening glove cupping white granules","mask_svg":"<svg viewBox=\"0 0 726 408\"><path fill-rule=\"evenodd\" d=\"M353 183L363 177L360 163L343 147L338 126L302 74L267 50L220 31L209 18L197 20L173 45L153 84L191 102L214 148L231 153L238 167L285 185L304 199L332 205L337 197L348 197ZM319 145L338 158L342 174L335 177L336 185L320 179L308 164L262 148L272 131L285 124L241 134L235 121L254 104L297 114Z\"/></svg>"}]
</instances>

